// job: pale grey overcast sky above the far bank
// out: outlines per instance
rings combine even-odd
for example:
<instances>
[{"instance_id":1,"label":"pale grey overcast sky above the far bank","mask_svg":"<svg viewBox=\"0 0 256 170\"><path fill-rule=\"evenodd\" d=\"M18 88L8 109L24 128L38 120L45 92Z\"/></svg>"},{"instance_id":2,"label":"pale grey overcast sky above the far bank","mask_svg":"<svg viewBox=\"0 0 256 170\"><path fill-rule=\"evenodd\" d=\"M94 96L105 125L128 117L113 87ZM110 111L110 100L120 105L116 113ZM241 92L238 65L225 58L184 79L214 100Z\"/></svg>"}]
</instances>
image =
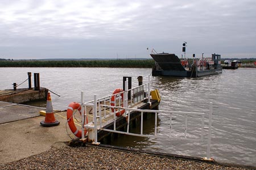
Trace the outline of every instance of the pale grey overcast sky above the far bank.
<instances>
[{"instance_id":1,"label":"pale grey overcast sky above the far bank","mask_svg":"<svg viewBox=\"0 0 256 170\"><path fill-rule=\"evenodd\" d=\"M0 58L256 57L255 0L0 0Z\"/></svg>"}]
</instances>

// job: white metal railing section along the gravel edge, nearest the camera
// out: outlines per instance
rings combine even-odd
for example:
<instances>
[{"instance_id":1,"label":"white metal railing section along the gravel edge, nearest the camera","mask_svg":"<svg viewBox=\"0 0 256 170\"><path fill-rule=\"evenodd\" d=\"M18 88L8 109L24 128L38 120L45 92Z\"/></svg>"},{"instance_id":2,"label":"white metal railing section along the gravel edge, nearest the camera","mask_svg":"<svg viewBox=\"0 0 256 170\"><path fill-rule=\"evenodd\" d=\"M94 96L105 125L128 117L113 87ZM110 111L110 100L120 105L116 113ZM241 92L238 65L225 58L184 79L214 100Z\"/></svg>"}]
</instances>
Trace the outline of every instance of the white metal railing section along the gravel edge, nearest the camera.
<instances>
[{"instance_id":1,"label":"white metal railing section along the gravel edge, nearest the camera","mask_svg":"<svg viewBox=\"0 0 256 170\"><path fill-rule=\"evenodd\" d=\"M97 141L97 130L104 130L104 131L109 131L112 133L119 133L119 134L126 134L126 135L133 135L133 136L137 136L137 137L148 137L148 138L164 138L164 139L180 139L180 140L187 140L187 141L197 141L197 142L203 142L204 141L204 129L205 129L205 115L206 113L200 113L200 112L179 112L179 111L161 111L161 110L149 110L149 109L136 109L136 108L128 108L128 107L115 107L112 105L105 105L105 104L98 104L97 99L96 99L96 95L94 95L94 104L84 104L85 106L89 106L92 107L93 105L93 124L84 124L84 121L82 122L82 129L87 128L87 129L92 129L92 133L89 133L88 136L89 138L92 139L93 144L98 145L98 141ZM97 107L98 107L98 112L100 113L100 116L97 116ZM114 111L113 113L110 113L108 116L106 117L102 117L101 116L101 108L109 108L110 110L113 108ZM127 130L126 131L120 131L117 130L116 127L116 121L118 119L118 117L115 115L115 113L118 112L118 110L116 109L125 109L125 114L123 116L126 117L127 119ZM141 131L140 133L131 133L130 132L130 114L131 112L137 112L141 114ZM144 113L154 113L155 114L155 125L154 125L154 134L145 134L143 133L143 114ZM158 114L165 114L167 116L170 117L170 121L169 121L169 131L168 131L168 135L166 134L160 134L158 133ZM86 113L85 113L86 115ZM173 117L174 115L183 115L185 118L184 121L184 132L183 132L183 137L172 137L172 129L174 127L174 124L172 124L173 122ZM104 118L107 118L109 116L113 116L114 120L114 126L113 129L106 129L103 127L102 124L102 120ZM188 116L200 116L201 117L201 134L200 134L200 138L188 138ZM86 118L85 118L86 120ZM83 132L83 131L82 131ZM208 138L207 138L207 156L204 157L204 160L213 160L212 158L210 158L210 142L211 142L211 133L212 133L212 103L210 103L209 105L209 126L208 126ZM84 134L84 133L82 133ZM84 136L83 136L84 137ZM82 138L83 138L82 137Z\"/></svg>"}]
</instances>

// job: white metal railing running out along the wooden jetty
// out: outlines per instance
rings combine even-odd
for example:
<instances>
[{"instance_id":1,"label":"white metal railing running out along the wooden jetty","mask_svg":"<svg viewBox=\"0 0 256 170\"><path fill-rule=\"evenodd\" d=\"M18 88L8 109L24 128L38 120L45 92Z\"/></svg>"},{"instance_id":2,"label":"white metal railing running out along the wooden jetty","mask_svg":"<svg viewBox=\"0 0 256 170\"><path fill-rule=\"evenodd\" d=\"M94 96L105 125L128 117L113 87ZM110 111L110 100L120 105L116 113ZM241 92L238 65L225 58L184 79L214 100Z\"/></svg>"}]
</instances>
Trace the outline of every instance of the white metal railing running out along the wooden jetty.
<instances>
[{"instance_id":1,"label":"white metal railing running out along the wooden jetty","mask_svg":"<svg viewBox=\"0 0 256 170\"><path fill-rule=\"evenodd\" d=\"M131 93L131 99L128 99L129 92ZM141 95L138 95L138 93ZM123 96L123 99L121 99L120 96ZM112 98L114 99L114 101L111 101ZM103 119L113 115L115 117L115 113L120 112L120 109L122 109L123 107L125 108L134 107L135 104L146 99L148 100L148 103L151 104L150 103L150 75L148 75L148 83L142 84L141 86L137 86L128 90L128 82L125 81L125 91L119 92L114 95L101 97L99 99L97 99L96 95L94 95L94 100L88 101L86 103L84 102L84 92L82 91L81 92L81 113L84 113L81 115L82 139L84 139L85 128L89 128L89 129L93 129L95 134L93 135L92 138L94 139L95 143L98 143L97 142L97 121L100 121L100 128L102 128ZM108 107L101 107L101 105L107 105ZM87 120L87 117L88 117L88 109L86 109L87 107L92 108L92 112L93 112L92 122L85 121ZM104 112L104 114L102 114L102 111ZM125 115L126 115L126 111L125 111ZM114 119L116 120L116 118ZM88 135L92 135L92 133Z\"/></svg>"}]
</instances>

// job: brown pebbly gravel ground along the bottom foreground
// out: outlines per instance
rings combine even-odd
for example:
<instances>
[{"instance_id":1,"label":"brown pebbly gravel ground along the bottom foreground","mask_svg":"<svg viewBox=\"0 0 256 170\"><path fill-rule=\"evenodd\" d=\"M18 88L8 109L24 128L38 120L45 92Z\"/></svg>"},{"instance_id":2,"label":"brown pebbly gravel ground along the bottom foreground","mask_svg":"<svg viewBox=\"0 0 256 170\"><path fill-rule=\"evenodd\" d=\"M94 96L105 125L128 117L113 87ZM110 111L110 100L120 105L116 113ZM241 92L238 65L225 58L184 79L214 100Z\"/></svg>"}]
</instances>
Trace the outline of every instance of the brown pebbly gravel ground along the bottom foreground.
<instances>
[{"instance_id":1,"label":"brown pebbly gravel ground along the bottom foreground","mask_svg":"<svg viewBox=\"0 0 256 170\"><path fill-rule=\"evenodd\" d=\"M0 164L0 169L245 169L160 158L97 147L53 145L49 151Z\"/></svg>"}]
</instances>

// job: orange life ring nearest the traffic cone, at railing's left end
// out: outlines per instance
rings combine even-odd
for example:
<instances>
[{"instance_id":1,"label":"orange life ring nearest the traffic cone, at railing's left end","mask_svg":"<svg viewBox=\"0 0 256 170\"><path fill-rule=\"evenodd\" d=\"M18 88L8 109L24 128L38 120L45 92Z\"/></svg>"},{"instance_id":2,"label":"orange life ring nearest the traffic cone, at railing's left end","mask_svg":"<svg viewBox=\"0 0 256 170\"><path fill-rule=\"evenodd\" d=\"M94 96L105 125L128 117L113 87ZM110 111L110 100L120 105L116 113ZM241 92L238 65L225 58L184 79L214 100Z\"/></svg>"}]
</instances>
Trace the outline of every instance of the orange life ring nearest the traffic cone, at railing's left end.
<instances>
[{"instance_id":1,"label":"orange life ring nearest the traffic cone, at railing's left end","mask_svg":"<svg viewBox=\"0 0 256 170\"><path fill-rule=\"evenodd\" d=\"M82 130L78 130L76 128L75 122L73 121L73 112L74 110L79 111L81 114L81 105L76 102L72 102L68 105L67 109L67 120L68 120L68 126L71 129L72 133L76 135L76 137L81 138L82 137ZM86 117L86 123L88 123L88 117ZM87 130L84 130L84 135L86 135Z\"/></svg>"}]
</instances>

